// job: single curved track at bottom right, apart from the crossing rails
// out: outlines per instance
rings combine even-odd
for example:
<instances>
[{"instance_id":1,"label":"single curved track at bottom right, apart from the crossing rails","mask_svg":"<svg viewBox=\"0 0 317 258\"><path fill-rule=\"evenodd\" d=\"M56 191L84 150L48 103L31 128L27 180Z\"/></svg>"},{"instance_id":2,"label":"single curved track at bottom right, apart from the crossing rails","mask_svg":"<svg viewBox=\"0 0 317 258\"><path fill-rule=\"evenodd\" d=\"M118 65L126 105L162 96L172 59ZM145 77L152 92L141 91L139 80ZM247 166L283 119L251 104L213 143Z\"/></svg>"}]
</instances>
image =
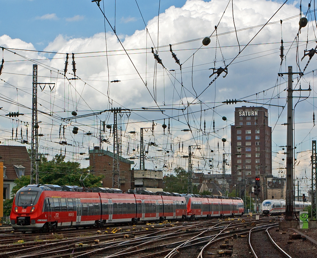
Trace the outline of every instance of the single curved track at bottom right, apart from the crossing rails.
<instances>
[{"instance_id":1,"label":"single curved track at bottom right, apart from the crossing rails","mask_svg":"<svg viewBox=\"0 0 317 258\"><path fill-rule=\"evenodd\" d=\"M269 228L273 227L250 229L249 245L253 256L255 258L292 258L273 241L268 233Z\"/></svg>"}]
</instances>

